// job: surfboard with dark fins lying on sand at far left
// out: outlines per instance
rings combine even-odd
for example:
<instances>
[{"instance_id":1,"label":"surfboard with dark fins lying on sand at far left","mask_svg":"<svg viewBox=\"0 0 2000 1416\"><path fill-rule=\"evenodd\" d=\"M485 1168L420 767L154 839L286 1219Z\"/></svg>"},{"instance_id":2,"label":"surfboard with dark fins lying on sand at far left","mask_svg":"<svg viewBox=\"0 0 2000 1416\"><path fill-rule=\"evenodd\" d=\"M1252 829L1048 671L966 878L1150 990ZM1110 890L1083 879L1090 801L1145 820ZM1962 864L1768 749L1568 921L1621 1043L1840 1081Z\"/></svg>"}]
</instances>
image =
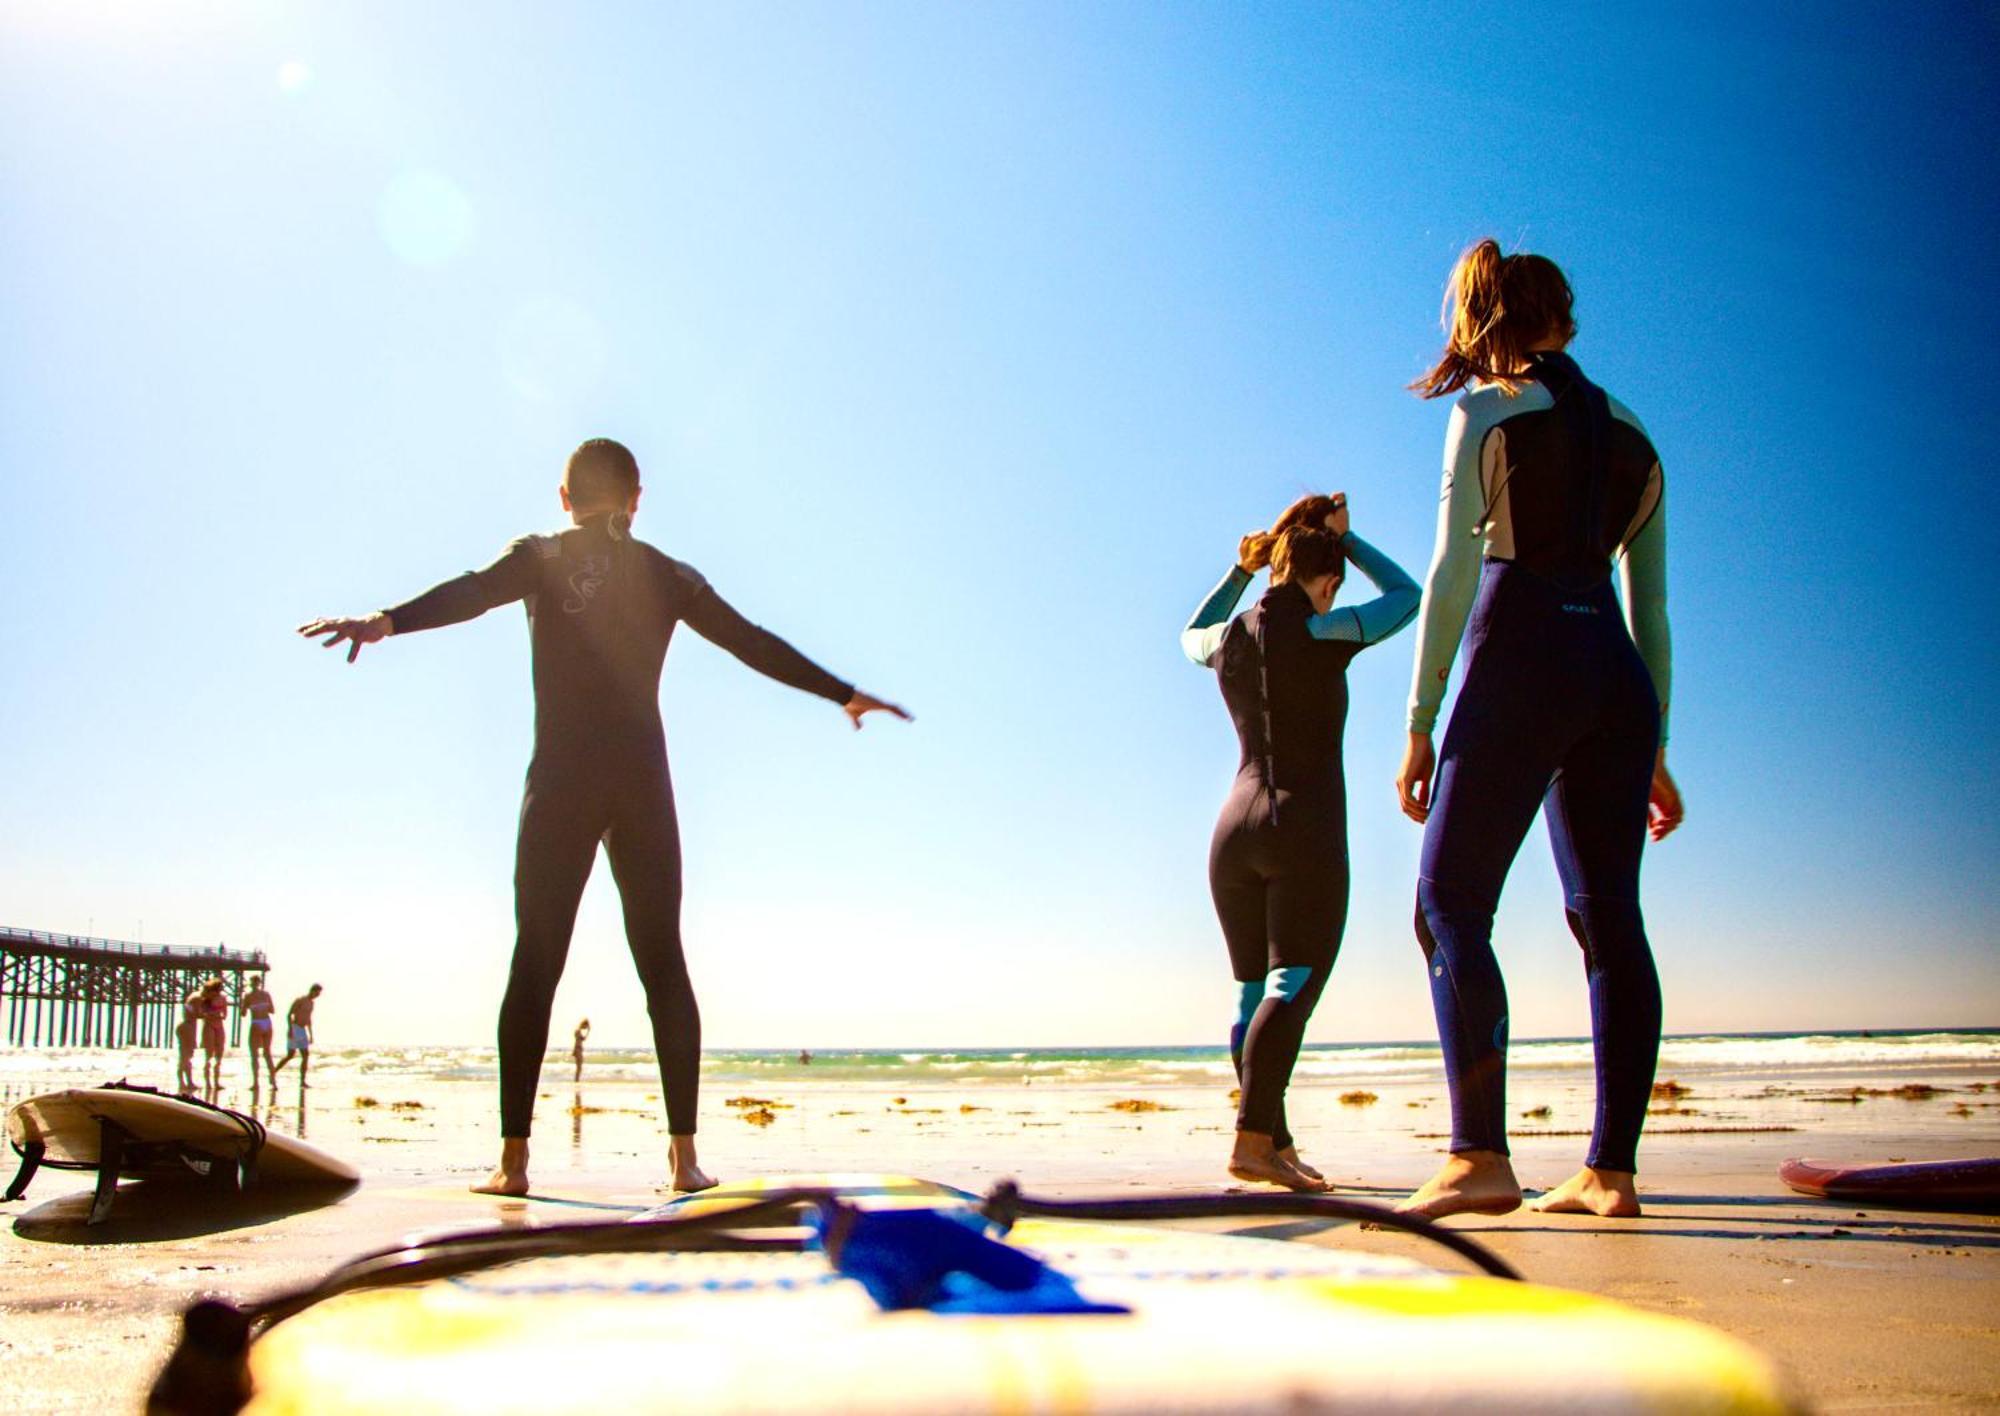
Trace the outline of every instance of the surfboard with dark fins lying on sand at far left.
<instances>
[{"instance_id":1,"label":"surfboard with dark fins lying on sand at far left","mask_svg":"<svg viewBox=\"0 0 2000 1416\"><path fill-rule=\"evenodd\" d=\"M18 1200L40 1166L98 1172L96 1224L118 1176L190 1176L234 1184L352 1184L360 1170L252 1116L130 1086L44 1092L16 1104L6 1134L22 1170L6 1198Z\"/></svg>"}]
</instances>

